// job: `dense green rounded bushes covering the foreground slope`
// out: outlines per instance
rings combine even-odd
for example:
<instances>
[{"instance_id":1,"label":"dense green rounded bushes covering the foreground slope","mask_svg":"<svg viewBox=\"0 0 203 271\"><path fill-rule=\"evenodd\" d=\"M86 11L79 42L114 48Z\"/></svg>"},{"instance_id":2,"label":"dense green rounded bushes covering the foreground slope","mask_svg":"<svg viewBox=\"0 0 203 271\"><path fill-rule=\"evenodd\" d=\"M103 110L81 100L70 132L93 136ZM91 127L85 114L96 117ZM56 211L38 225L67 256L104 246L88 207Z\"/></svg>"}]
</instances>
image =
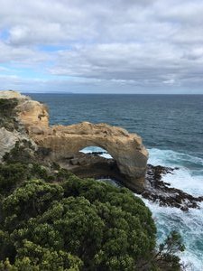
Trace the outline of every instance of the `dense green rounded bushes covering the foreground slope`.
<instances>
[{"instance_id":1,"label":"dense green rounded bushes covering the foreground slope","mask_svg":"<svg viewBox=\"0 0 203 271\"><path fill-rule=\"evenodd\" d=\"M125 188L53 164L0 164L0 270L180 270L151 211ZM162 267L161 267L162 266Z\"/></svg>"}]
</instances>

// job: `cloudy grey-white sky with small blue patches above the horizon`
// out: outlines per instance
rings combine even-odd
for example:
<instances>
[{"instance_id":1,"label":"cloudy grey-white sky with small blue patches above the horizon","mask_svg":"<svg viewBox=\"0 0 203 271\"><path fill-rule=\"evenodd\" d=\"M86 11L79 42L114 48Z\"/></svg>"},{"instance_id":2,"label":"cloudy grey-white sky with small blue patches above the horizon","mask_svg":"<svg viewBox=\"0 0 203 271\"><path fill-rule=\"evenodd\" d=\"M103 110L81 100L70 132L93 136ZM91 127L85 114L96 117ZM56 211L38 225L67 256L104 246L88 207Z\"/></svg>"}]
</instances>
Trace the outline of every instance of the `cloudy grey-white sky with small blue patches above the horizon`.
<instances>
[{"instance_id":1,"label":"cloudy grey-white sky with small blue patches above the horizon","mask_svg":"<svg viewBox=\"0 0 203 271\"><path fill-rule=\"evenodd\" d=\"M0 0L0 89L203 94L203 1Z\"/></svg>"}]
</instances>

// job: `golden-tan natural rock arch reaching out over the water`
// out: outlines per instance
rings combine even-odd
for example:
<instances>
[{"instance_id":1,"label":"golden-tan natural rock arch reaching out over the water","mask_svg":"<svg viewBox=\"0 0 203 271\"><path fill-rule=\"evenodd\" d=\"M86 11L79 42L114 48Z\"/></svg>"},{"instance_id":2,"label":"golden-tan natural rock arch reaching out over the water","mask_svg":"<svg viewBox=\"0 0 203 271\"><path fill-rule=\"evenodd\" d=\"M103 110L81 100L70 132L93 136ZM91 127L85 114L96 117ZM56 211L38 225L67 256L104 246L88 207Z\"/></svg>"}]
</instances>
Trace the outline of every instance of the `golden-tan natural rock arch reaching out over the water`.
<instances>
[{"instance_id":1,"label":"golden-tan natural rock arch reaching out over the water","mask_svg":"<svg viewBox=\"0 0 203 271\"><path fill-rule=\"evenodd\" d=\"M83 122L72 126L30 126L29 134L38 144L51 149L53 160L77 154L81 149L95 145L105 149L115 159L126 186L143 190L148 152L142 138L125 129L106 124Z\"/></svg>"}]
</instances>

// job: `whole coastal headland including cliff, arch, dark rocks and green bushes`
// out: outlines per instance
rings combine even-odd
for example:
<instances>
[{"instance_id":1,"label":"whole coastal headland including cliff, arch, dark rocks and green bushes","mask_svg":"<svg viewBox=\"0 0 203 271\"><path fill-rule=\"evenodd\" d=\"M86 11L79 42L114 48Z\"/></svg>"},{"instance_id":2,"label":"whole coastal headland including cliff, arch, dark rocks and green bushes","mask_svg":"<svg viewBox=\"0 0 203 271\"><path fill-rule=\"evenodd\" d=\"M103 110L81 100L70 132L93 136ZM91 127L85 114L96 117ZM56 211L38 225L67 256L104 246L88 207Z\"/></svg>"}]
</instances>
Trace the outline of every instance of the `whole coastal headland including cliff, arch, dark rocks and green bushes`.
<instances>
[{"instance_id":1,"label":"whole coastal headland including cliff, arch, dark rocks and green bushes","mask_svg":"<svg viewBox=\"0 0 203 271\"><path fill-rule=\"evenodd\" d=\"M172 169L148 165L145 177L140 136L88 122L49 126L47 107L14 91L0 92L0 108L0 270L180 270L167 252L179 234L156 252L152 213L122 183L163 205L189 199L186 208L196 208L201 199L185 193L177 201L179 191L161 182ZM90 145L113 158L79 152ZM87 179L105 176L120 183Z\"/></svg>"}]
</instances>

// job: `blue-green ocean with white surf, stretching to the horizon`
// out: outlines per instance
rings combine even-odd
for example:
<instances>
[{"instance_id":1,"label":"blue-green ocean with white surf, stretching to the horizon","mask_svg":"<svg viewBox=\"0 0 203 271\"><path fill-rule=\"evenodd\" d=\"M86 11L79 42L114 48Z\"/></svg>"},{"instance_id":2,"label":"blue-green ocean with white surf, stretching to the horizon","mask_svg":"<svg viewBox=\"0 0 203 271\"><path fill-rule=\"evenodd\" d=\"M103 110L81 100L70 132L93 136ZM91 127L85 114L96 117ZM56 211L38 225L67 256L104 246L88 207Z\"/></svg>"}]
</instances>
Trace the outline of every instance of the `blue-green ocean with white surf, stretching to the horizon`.
<instances>
[{"instance_id":1,"label":"blue-green ocean with white surf, stretching to the horizon","mask_svg":"<svg viewBox=\"0 0 203 271\"><path fill-rule=\"evenodd\" d=\"M50 107L51 125L82 121L122 126L143 137L149 164L179 167L163 181L192 195L203 195L203 95L28 94ZM89 150L97 148L89 148ZM160 207L152 210L158 242L178 230L188 271L203 270L203 204L199 210Z\"/></svg>"}]
</instances>

